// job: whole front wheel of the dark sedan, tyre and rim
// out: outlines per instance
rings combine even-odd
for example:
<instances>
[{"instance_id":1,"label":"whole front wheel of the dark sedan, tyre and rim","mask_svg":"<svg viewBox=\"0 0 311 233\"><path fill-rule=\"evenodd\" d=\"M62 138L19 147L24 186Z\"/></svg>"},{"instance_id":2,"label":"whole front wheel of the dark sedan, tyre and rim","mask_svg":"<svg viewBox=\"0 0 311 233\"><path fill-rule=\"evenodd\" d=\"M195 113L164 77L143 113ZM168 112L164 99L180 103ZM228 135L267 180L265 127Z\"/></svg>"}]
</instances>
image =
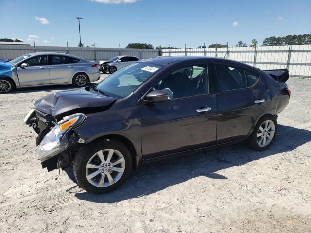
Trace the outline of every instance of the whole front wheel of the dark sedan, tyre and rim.
<instances>
[{"instance_id":1,"label":"whole front wheel of the dark sedan, tyre and rim","mask_svg":"<svg viewBox=\"0 0 311 233\"><path fill-rule=\"evenodd\" d=\"M104 141L91 143L80 150L73 163L73 173L78 184L87 192L110 192L130 176L132 156L125 145Z\"/></svg>"}]
</instances>

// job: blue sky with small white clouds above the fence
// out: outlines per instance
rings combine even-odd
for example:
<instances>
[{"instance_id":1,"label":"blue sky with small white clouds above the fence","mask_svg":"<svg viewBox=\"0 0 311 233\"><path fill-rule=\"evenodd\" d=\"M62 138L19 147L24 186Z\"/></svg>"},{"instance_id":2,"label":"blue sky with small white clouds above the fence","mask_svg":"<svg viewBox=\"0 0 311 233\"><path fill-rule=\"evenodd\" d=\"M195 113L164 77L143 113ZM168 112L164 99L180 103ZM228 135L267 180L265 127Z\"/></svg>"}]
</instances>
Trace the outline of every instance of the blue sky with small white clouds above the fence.
<instances>
[{"instance_id":1,"label":"blue sky with small white clouds above the fence","mask_svg":"<svg viewBox=\"0 0 311 233\"><path fill-rule=\"evenodd\" d=\"M77 46L75 17L83 18L84 46L235 46L253 38L261 45L269 36L311 33L311 0L0 0L0 38Z\"/></svg>"}]
</instances>

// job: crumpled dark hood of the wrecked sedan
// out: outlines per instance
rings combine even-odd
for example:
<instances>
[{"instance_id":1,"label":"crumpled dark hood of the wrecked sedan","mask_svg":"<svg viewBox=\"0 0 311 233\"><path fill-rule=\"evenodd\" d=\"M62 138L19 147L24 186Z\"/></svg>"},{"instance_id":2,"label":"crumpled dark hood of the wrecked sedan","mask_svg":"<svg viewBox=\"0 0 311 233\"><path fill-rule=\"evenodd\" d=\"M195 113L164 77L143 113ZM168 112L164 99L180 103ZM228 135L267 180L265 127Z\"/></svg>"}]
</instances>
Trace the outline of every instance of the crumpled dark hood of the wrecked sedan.
<instances>
[{"instance_id":1,"label":"crumpled dark hood of the wrecked sedan","mask_svg":"<svg viewBox=\"0 0 311 233\"><path fill-rule=\"evenodd\" d=\"M118 99L89 92L86 88L47 95L35 101L35 109L51 116L63 116L77 112L100 112L110 107Z\"/></svg>"}]
</instances>

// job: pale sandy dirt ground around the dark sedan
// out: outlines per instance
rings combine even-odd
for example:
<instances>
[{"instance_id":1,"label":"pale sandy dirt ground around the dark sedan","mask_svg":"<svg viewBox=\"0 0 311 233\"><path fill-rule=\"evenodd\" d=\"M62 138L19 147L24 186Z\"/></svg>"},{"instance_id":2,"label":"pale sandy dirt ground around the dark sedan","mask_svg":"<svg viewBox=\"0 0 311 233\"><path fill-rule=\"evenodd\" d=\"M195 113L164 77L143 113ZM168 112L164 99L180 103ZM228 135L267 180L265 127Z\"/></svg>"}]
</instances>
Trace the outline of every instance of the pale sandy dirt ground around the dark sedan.
<instances>
[{"instance_id":1,"label":"pale sandy dirt ground around the dark sedan","mask_svg":"<svg viewBox=\"0 0 311 233\"><path fill-rule=\"evenodd\" d=\"M0 232L310 233L311 80L288 85L269 150L239 144L148 164L100 196L71 169L58 180L43 170L23 124L35 100L71 87L0 95Z\"/></svg>"}]
</instances>

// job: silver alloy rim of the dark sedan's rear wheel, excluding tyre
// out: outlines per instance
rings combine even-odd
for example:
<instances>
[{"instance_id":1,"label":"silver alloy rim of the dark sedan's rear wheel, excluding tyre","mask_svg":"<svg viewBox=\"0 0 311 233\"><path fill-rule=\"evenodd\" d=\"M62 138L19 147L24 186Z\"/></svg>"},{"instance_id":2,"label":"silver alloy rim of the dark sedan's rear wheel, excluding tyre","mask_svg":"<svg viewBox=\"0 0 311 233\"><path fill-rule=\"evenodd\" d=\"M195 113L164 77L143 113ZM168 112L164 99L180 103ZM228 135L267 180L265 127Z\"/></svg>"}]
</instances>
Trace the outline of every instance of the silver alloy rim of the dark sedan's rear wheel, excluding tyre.
<instances>
[{"instance_id":1,"label":"silver alloy rim of the dark sedan's rear wheel, excluding tyre","mask_svg":"<svg viewBox=\"0 0 311 233\"><path fill-rule=\"evenodd\" d=\"M272 120L264 121L257 132L257 143L260 147L267 146L273 139L275 125Z\"/></svg>"}]
</instances>

